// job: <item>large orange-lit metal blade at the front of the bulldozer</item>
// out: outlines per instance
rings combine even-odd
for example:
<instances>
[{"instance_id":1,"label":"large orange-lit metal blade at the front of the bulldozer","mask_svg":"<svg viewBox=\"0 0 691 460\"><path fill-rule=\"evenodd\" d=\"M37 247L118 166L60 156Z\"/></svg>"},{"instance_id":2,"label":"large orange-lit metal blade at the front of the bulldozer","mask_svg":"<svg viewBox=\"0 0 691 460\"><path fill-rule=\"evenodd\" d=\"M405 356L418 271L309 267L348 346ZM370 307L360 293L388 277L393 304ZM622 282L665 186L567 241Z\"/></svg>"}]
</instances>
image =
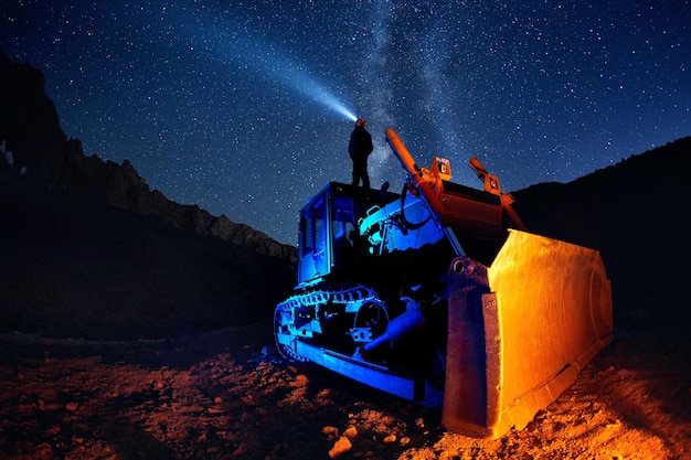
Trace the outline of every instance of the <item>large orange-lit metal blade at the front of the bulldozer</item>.
<instances>
[{"instance_id":1,"label":"large orange-lit metal blade at the front of the bulldozer","mask_svg":"<svg viewBox=\"0 0 691 460\"><path fill-rule=\"evenodd\" d=\"M496 439L522 429L613 340L597 250L510 231L490 267L449 268L442 425Z\"/></svg>"}]
</instances>

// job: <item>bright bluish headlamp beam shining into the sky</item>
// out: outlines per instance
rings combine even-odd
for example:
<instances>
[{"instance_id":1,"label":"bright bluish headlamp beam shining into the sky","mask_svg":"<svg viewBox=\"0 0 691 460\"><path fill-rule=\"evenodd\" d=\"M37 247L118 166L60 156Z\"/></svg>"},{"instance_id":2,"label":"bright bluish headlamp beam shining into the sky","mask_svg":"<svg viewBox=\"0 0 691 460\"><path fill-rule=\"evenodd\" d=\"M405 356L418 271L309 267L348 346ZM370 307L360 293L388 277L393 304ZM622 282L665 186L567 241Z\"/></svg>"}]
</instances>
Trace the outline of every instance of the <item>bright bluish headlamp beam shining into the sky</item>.
<instances>
[{"instance_id":1,"label":"bright bluish headlamp beam shining into the sky","mask_svg":"<svg viewBox=\"0 0 691 460\"><path fill-rule=\"evenodd\" d=\"M235 61L244 68L264 75L351 121L357 120L354 111L340 101L327 85L319 82L287 52L277 49L275 43L254 36L246 28L230 21L225 24L224 31L214 29L206 30L203 39L209 50L222 60Z\"/></svg>"}]
</instances>

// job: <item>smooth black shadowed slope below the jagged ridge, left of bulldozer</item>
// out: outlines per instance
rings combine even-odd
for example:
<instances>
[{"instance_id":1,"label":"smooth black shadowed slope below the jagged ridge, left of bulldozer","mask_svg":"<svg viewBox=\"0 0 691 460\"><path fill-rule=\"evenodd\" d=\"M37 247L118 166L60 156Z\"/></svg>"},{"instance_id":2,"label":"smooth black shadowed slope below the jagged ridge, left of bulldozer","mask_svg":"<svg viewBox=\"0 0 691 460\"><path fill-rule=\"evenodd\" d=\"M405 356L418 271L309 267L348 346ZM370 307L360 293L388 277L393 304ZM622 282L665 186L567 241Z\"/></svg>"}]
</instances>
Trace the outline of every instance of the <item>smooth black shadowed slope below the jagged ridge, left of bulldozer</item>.
<instances>
[{"instance_id":1,"label":"smooth black shadowed slope below the jagged ridge, left of bulldozer","mask_svg":"<svg viewBox=\"0 0 691 460\"><path fill-rule=\"evenodd\" d=\"M0 332L177 338L264 321L294 264L0 174Z\"/></svg>"}]
</instances>

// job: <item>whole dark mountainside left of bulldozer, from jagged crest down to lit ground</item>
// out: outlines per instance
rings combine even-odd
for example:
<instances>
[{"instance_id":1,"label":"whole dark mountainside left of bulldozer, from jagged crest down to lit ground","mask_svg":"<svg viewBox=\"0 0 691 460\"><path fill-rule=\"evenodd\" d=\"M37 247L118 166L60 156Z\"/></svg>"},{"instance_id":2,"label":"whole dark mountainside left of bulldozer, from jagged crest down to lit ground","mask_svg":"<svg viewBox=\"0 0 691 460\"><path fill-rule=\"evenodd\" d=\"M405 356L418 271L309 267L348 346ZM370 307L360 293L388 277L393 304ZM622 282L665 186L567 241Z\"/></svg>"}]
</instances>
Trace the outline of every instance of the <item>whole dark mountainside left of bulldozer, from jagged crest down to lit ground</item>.
<instances>
[{"instance_id":1,"label":"whole dark mountainside left of bulldozer, from jagged crest down to lit ground","mask_svg":"<svg viewBox=\"0 0 691 460\"><path fill-rule=\"evenodd\" d=\"M0 54L0 330L172 338L272 321L296 248L86 157L43 75Z\"/></svg>"}]
</instances>

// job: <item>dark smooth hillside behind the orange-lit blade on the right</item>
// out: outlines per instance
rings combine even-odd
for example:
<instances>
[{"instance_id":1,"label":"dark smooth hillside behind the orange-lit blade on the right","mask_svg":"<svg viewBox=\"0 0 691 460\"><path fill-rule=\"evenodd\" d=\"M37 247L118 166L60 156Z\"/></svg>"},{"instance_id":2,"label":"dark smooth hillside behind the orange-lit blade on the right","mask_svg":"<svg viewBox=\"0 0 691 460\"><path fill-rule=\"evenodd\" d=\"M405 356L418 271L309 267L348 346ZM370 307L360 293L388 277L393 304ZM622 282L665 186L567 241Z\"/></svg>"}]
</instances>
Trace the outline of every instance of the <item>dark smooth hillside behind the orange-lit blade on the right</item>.
<instances>
[{"instance_id":1,"label":"dark smooth hillside behind the orange-lit blade on the right","mask_svg":"<svg viewBox=\"0 0 691 460\"><path fill-rule=\"evenodd\" d=\"M689 178L691 137L566 184L521 190L513 193L514 206L531 231L600 252L615 325L687 334Z\"/></svg>"}]
</instances>

